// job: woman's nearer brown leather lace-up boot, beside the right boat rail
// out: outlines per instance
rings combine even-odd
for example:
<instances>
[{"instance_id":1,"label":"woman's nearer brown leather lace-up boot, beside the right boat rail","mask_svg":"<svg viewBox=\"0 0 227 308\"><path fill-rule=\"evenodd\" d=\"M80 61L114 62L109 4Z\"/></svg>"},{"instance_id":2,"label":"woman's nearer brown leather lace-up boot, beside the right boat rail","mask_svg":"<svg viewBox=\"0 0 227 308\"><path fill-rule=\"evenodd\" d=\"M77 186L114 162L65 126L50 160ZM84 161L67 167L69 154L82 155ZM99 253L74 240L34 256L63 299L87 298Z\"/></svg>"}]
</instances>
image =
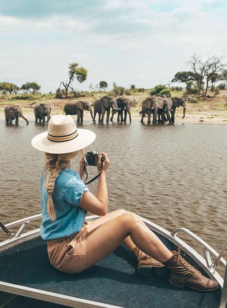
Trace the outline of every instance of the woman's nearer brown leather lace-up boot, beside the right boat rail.
<instances>
[{"instance_id":1,"label":"woman's nearer brown leather lace-up boot, beside the right boat rail","mask_svg":"<svg viewBox=\"0 0 227 308\"><path fill-rule=\"evenodd\" d=\"M189 264L180 254L181 249L172 251L173 256L163 264L171 271L170 284L174 287L185 286L196 291L209 292L218 289L218 282L204 277L197 269Z\"/></svg>"}]
</instances>

